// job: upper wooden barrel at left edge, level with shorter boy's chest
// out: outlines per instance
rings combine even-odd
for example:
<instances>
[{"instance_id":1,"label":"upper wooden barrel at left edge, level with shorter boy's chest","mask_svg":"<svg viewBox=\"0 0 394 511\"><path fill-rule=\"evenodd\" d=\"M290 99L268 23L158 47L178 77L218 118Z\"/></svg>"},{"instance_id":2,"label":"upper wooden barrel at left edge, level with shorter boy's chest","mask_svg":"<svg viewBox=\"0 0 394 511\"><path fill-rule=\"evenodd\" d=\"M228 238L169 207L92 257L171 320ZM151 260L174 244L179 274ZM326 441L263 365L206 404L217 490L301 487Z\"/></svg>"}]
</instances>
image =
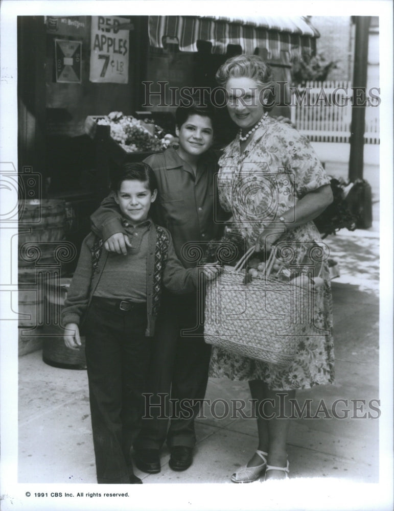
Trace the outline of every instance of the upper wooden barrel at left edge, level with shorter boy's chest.
<instances>
[{"instance_id":1,"label":"upper wooden barrel at left edge, level with shorter boy's chest","mask_svg":"<svg viewBox=\"0 0 394 511\"><path fill-rule=\"evenodd\" d=\"M64 239L65 201L19 200L18 221L18 281L32 283L38 258L40 265L55 262L56 242Z\"/></svg>"}]
</instances>

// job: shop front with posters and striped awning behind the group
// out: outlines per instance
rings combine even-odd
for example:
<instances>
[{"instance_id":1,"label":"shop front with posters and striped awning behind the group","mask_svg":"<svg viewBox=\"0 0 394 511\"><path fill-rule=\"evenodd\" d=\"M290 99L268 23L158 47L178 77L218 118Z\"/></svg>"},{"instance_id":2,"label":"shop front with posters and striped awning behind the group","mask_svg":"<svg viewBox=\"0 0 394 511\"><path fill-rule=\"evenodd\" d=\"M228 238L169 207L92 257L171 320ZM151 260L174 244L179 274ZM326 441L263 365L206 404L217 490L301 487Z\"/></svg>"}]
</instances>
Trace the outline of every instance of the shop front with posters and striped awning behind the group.
<instances>
[{"instance_id":1,"label":"shop front with posters and striped awning behind the group","mask_svg":"<svg viewBox=\"0 0 394 511\"><path fill-rule=\"evenodd\" d=\"M87 118L122 111L174 131L172 90L215 88L219 65L241 53L261 55L290 83L291 57L314 52L318 36L304 17L20 16L19 172L32 167L40 197L67 202L67 237L78 246L116 164L105 137L87 133ZM224 145L234 130L226 109L219 114ZM273 114L289 117L286 108Z\"/></svg>"}]
</instances>

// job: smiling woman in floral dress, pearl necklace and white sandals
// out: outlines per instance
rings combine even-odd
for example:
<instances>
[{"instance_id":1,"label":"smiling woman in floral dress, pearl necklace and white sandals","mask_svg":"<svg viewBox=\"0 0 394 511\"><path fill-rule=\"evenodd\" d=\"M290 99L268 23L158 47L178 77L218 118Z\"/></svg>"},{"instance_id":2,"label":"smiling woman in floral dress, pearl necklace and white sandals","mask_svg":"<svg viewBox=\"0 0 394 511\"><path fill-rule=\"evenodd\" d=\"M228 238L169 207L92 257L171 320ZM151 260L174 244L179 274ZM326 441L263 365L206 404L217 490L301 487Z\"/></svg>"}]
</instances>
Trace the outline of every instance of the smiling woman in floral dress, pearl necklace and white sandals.
<instances>
[{"instance_id":1,"label":"smiling woman in floral dress, pearl necklace and white sandals","mask_svg":"<svg viewBox=\"0 0 394 511\"><path fill-rule=\"evenodd\" d=\"M308 249L320 241L312 220L332 202L330 180L308 140L292 126L268 116L274 82L270 67L260 57L232 57L219 68L216 79L227 91L230 118L240 128L219 160L221 205L233 213L233 227L246 239L247 248L268 252L273 243L286 242L295 251L295 262L301 264ZM264 472L266 480L287 478L289 419L276 416L282 411L282 416L289 417L289 400L295 398L297 388L333 381L329 271L327 263L320 266L323 285L315 292L314 317L315 326L327 335L300 337L290 367L280 369L213 349L210 376L248 380L257 403L272 400L267 403L273 404L272 419L257 414L258 450L231 476L233 482L252 482Z\"/></svg>"}]
</instances>

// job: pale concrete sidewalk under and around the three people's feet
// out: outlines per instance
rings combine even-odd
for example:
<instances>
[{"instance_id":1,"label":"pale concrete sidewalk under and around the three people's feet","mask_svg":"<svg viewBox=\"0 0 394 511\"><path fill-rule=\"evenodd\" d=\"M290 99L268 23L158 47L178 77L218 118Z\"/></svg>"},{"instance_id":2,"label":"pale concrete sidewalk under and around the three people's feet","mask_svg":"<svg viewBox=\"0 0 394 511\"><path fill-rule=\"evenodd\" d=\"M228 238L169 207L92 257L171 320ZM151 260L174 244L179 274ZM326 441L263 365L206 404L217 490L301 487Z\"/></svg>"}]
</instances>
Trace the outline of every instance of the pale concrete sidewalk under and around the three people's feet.
<instances>
[{"instance_id":1,"label":"pale concrete sidewalk under and around the three people's feet","mask_svg":"<svg viewBox=\"0 0 394 511\"><path fill-rule=\"evenodd\" d=\"M351 416L365 412L377 416L372 408L377 403L371 400L379 399L378 233L375 225L369 231L340 231L325 241L341 273L332 282L336 381L299 391L297 399L300 404L312 399L312 410L323 399L330 414L332 403L344 399L347 405L341 402L338 413L343 408L350 412L344 419L293 421L288 443L291 477L377 482L379 421ZM247 401L250 395L247 382L210 379L206 398L229 403L231 399ZM214 412L223 414L220 402ZM231 473L257 448L256 421L231 416L218 419L209 407L205 415L196 423L197 446L190 469L172 471L164 448L159 474L136 470L145 484L231 484ZM42 362L40 351L19 358L18 481L96 482L86 371L49 366Z\"/></svg>"}]
</instances>

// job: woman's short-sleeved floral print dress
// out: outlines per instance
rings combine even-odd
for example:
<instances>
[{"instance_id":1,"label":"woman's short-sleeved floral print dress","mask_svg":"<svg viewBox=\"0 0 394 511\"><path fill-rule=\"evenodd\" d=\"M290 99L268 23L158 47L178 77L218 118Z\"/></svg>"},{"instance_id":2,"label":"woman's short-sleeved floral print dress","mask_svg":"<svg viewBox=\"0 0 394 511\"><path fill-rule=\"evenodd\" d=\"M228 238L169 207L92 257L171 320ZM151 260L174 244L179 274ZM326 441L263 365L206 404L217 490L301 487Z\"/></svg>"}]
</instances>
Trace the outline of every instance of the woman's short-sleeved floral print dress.
<instances>
[{"instance_id":1,"label":"woman's short-sleeved floral print dress","mask_svg":"<svg viewBox=\"0 0 394 511\"><path fill-rule=\"evenodd\" d=\"M275 217L280 217L298 199L330 183L308 139L288 124L272 118L256 132L240 153L239 136L219 159L218 189L220 203L233 213L233 226L246 239L247 247ZM306 261L316 243L325 247L313 222L296 227L282 236L294 250L292 263ZM231 380L262 380L272 390L310 388L334 380L332 337L332 300L326 247L321 268L324 283L314 299L314 324L328 335L301 336L294 362L277 368L259 360L231 354L213 347L210 376ZM308 261L310 263L310 261Z\"/></svg>"}]
</instances>

